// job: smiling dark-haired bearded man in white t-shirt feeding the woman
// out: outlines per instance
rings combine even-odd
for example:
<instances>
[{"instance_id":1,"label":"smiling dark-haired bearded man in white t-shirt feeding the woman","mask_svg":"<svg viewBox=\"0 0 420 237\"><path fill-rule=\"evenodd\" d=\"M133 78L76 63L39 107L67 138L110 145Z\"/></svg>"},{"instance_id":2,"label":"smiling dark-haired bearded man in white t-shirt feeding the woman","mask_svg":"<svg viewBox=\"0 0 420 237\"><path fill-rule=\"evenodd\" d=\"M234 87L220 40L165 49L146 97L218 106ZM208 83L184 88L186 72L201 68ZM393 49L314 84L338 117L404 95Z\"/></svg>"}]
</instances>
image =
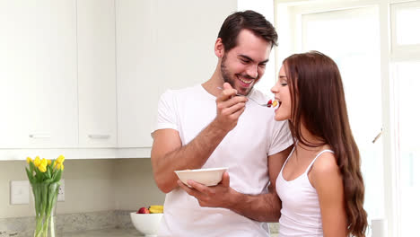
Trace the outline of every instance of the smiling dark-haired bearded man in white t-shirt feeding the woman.
<instances>
[{"instance_id":1,"label":"smiling dark-haired bearded man in white t-shirt feeding the woman","mask_svg":"<svg viewBox=\"0 0 420 237\"><path fill-rule=\"evenodd\" d=\"M253 89L276 40L261 14L232 13L214 45L212 77L162 94L152 148L154 180L167 193L159 236L268 236L260 222L278 221L274 186L292 140ZM188 188L174 173L216 167L228 171L214 187L189 180Z\"/></svg>"}]
</instances>

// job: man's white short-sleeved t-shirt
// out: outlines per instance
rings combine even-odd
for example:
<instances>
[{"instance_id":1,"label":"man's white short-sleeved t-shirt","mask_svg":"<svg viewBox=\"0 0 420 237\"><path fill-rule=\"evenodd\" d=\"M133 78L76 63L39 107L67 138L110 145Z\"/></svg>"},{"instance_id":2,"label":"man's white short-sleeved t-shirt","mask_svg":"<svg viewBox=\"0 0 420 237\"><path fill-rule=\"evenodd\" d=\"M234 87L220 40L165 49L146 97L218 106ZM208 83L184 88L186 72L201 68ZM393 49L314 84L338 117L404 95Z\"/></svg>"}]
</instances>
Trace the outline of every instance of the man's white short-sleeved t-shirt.
<instances>
[{"instance_id":1,"label":"man's white short-sleeved t-shirt","mask_svg":"<svg viewBox=\"0 0 420 237\"><path fill-rule=\"evenodd\" d=\"M249 97L261 103L267 97L253 89ZM154 130L171 128L179 132L182 145L194 139L216 116L214 95L201 84L167 91L158 105ZM228 167L230 185L238 192L267 193L267 156L292 145L287 122L276 121L272 108L249 100L246 109L202 168ZM183 189L166 195L164 215L158 236L268 236L266 223L253 221L225 208L201 207Z\"/></svg>"}]
</instances>

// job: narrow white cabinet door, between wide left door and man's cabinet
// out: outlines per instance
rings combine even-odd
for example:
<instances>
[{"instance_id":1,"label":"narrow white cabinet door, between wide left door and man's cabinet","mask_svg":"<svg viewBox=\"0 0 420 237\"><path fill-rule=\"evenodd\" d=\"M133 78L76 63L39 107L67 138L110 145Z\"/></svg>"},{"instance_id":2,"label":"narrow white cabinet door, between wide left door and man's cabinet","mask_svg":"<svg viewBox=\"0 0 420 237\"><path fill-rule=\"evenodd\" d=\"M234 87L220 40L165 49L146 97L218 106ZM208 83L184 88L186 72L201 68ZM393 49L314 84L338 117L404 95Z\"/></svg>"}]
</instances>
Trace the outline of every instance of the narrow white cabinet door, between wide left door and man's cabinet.
<instances>
[{"instance_id":1,"label":"narrow white cabinet door, between wide left door and man's cabinet","mask_svg":"<svg viewBox=\"0 0 420 237\"><path fill-rule=\"evenodd\" d=\"M77 1L79 146L117 145L114 0Z\"/></svg>"}]
</instances>

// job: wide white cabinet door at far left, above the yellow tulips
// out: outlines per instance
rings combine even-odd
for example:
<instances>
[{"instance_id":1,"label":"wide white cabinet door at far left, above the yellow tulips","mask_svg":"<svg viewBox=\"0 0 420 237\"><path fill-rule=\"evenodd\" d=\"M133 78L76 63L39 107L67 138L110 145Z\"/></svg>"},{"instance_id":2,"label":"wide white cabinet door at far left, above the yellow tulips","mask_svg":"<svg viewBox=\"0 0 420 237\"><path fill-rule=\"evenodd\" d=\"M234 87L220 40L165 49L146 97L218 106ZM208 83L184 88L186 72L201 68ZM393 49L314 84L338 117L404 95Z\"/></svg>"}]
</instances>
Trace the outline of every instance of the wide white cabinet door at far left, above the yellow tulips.
<instances>
[{"instance_id":1,"label":"wide white cabinet door at far left, above the yellow tulips","mask_svg":"<svg viewBox=\"0 0 420 237\"><path fill-rule=\"evenodd\" d=\"M75 2L0 1L0 147L77 145Z\"/></svg>"}]
</instances>

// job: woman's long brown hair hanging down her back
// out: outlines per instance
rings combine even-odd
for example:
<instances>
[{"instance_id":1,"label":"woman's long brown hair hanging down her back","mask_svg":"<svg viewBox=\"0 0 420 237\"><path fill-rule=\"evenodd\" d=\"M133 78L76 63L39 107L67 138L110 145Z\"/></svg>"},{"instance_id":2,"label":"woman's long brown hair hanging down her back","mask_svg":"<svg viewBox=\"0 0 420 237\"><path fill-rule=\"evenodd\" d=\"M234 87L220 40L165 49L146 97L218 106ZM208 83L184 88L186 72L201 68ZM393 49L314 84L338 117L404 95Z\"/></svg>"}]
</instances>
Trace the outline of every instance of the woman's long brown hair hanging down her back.
<instances>
[{"instance_id":1,"label":"woman's long brown hair hanging down her back","mask_svg":"<svg viewBox=\"0 0 420 237\"><path fill-rule=\"evenodd\" d=\"M330 57L317 51L287 57L283 65L292 95L289 121L292 135L304 145L327 144L334 151L344 184L347 232L364 237L367 214L363 209L361 160L348 120L338 67ZM302 137L301 124L323 142L309 143Z\"/></svg>"}]
</instances>

